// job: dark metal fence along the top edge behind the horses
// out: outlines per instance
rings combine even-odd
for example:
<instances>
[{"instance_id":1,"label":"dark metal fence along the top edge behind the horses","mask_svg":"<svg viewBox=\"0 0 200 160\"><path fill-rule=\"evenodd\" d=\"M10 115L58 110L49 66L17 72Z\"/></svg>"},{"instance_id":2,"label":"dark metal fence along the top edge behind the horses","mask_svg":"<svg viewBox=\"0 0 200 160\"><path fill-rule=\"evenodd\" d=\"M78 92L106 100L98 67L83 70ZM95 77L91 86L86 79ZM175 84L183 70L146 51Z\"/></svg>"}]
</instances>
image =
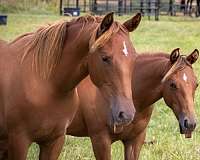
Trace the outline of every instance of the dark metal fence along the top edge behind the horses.
<instances>
[{"instance_id":1,"label":"dark metal fence along the top edge behind the horses","mask_svg":"<svg viewBox=\"0 0 200 160\"><path fill-rule=\"evenodd\" d=\"M149 17L155 16L158 20L160 14L165 15L186 15L187 6L175 0L63 0L63 7L78 7L82 12L92 12L94 14L105 14L114 11L119 15L133 14L141 12ZM192 5L192 10L198 14L196 4Z\"/></svg>"}]
</instances>

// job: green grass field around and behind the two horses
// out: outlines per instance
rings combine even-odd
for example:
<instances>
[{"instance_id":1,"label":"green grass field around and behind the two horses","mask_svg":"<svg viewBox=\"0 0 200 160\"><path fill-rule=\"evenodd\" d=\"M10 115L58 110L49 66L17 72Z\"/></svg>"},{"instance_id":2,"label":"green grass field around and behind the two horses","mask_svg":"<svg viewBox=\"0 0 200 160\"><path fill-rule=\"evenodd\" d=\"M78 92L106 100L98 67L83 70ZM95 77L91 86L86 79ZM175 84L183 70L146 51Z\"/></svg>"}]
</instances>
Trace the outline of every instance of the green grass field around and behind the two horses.
<instances>
[{"instance_id":1,"label":"green grass field around and behind the two horses","mask_svg":"<svg viewBox=\"0 0 200 160\"><path fill-rule=\"evenodd\" d=\"M8 25L0 26L0 38L12 40L17 35L34 31L42 24L58 19L53 15L9 14ZM128 17L116 17L123 21ZM180 47L182 54L189 54L195 48L200 49L200 19L189 17L161 17L158 22L142 20L138 29L131 34L137 51L166 51ZM200 62L194 65L200 79ZM163 101L155 104L153 117L148 127L147 140L155 140L154 145L144 146L140 160L200 160L200 90L196 92L196 112L198 125L192 139L185 139L179 134L175 116ZM28 159L38 156L37 145L32 145ZM88 138L66 137L60 160L94 160L92 147ZM120 142L112 146L112 159L123 159L123 146Z\"/></svg>"}]
</instances>

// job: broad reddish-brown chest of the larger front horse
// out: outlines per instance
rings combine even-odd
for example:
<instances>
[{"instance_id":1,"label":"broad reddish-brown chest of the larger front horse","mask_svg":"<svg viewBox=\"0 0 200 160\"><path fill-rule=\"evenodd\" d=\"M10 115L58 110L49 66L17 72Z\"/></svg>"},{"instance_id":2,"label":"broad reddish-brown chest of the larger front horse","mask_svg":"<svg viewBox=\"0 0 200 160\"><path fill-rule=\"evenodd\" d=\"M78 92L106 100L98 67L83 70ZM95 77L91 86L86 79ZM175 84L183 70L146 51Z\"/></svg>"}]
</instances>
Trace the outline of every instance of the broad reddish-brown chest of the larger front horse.
<instances>
[{"instance_id":1,"label":"broad reddish-brown chest of the larger front horse","mask_svg":"<svg viewBox=\"0 0 200 160\"><path fill-rule=\"evenodd\" d=\"M63 135L79 103L74 91L54 96L51 90L37 85L19 90L9 102L9 128L15 130L20 126L35 141Z\"/></svg>"}]
</instances>

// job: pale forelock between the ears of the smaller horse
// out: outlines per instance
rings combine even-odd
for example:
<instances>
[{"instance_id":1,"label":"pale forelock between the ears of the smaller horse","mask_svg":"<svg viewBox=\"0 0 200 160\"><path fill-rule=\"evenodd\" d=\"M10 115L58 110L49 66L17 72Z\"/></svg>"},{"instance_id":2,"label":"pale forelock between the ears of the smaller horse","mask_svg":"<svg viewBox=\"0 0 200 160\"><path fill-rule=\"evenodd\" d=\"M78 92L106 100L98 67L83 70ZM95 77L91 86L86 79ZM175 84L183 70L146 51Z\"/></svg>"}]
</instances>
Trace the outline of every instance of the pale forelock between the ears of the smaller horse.
<instances>
[{"instance_id":1,"label":"pale forelock between the ears of the smaller horse","mask_svg":"<svg viewBox=\"0 0 200 160\"><path fill-rule=\"evenodd\" d=\"M172 74L183 70L186 66L192 68L192 65L186 60L185 56L181 55L177 61L171 66L171 68L166 72L165 76L162 78L161 82L165 82Z\"/></svg>"}]
</instances>

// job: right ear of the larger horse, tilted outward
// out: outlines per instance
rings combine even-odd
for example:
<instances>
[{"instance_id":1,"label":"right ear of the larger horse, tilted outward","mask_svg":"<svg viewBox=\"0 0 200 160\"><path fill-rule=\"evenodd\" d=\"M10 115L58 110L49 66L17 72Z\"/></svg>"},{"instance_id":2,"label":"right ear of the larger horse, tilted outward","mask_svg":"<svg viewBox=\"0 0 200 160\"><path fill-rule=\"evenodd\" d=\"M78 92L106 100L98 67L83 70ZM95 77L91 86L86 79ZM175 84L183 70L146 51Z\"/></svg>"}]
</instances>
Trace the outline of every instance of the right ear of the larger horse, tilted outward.
<instances>
[{"instance_id":1,"label":"right ear of the larger horse, tilted outward","mask_svg":"<svg viewBox=\"0 0 200 160\"><path fill-rule=\"evenodd\" d=\"M134 17L132 17L131 19L129 19L126 22L124 22L123 25L126 27L126 29L129 32L132 32L140 24L141 17L142 17L141 13L137 13Z\"/></svg>"}]
</instances>

